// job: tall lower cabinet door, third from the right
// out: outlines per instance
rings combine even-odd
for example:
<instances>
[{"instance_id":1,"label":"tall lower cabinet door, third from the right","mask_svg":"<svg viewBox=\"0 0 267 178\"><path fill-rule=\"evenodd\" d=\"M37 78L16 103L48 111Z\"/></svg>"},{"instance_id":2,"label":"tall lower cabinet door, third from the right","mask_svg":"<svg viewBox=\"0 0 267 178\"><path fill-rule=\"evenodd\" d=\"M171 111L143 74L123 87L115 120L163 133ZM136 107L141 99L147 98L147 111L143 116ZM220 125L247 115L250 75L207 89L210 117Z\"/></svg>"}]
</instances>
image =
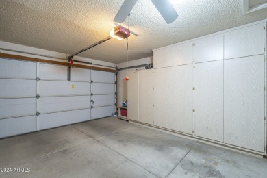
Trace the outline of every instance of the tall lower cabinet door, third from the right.
<instances>
[{"instance_id":1,"label":"tall lower cabinet door, third from the right","mask_svg":"<svg viewBox=\"0 0 267 178\"><path fill-rule=\"evenodd\" d=\"M192 64L184 66L175 66L172 72L172 97L168 112L172 113L171 129L192 134L193 130L193 112L192 112Z\"/></svg>"}]
</instances>

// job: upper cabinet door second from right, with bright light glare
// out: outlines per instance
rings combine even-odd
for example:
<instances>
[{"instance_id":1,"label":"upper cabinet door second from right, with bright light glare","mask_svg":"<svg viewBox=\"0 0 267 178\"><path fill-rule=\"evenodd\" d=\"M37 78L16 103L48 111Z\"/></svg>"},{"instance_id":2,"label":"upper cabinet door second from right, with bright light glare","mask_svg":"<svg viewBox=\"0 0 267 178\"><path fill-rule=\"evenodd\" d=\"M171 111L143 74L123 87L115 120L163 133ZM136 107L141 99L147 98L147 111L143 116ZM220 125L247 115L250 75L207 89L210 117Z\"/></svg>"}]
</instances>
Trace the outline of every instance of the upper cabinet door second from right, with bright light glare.
<instances>
[{"instance_id":1,"label":"upper cabinet door second from right, with bright light glare","mask_svg":"<svg viewBox=\"0 0 267 178\"><path fill-rule=\"evenodd\" d=\"M223 34L196 40L193 50L196 63L223 60Z\"/></svg>"}]
</instances>

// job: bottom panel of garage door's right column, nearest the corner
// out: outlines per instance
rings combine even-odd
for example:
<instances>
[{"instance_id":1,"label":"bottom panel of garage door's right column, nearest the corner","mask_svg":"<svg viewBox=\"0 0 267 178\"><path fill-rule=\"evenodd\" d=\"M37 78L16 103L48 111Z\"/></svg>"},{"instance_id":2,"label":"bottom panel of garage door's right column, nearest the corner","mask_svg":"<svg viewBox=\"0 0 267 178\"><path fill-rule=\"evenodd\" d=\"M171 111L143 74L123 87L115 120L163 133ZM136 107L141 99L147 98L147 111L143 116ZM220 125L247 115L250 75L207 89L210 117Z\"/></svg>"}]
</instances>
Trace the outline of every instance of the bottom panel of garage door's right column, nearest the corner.
<instances>
[{"instance_id":1,"label":"bottom panel of garage door's right column, nearest the corner","mask_svg":"<svg viewBox=\"0 0 267 178\"><path fill-rule=\"evenodd\" d=\"M115 112L115 105L105 107L95 107L92 109L92 119L113 116Z\"/></svg>"}]
</instances>

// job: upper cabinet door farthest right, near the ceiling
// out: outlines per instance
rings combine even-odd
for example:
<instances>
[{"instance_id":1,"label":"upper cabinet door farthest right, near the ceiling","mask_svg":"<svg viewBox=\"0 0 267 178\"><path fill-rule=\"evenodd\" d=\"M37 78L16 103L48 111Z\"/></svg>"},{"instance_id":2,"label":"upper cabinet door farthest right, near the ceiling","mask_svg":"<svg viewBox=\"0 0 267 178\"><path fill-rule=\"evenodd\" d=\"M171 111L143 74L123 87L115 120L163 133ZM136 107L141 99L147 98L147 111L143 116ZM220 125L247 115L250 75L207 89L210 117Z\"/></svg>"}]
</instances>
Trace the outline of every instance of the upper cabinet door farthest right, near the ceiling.
<instances>
[{"instance_id":1,"label":"upper cabinet door farthest right, near the ceiling","mask_svg":"<svg viewBox=\"0 0 267 178\"><path fill-rule=\"evenodd\" d=\"M225 59L264 53L264 24L225 33Z\"/></svg>"}]
</instances>

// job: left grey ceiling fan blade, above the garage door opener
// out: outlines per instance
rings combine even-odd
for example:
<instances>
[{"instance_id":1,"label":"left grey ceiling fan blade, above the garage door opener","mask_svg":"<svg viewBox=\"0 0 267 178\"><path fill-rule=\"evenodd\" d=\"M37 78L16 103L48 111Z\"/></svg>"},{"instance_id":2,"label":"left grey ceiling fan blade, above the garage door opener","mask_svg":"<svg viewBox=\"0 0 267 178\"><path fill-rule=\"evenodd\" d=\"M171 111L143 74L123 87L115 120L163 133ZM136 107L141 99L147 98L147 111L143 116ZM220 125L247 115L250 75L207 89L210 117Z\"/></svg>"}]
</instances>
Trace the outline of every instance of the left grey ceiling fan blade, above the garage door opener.
<instances>
[{"instance_id":1,"label":"left grey ceiling fan blade, above the garage door opener","mask_svg":"<svg viewBox=\"0 0 267 178\"><path fill-rule=\"evenodd\" d=\"M133 6L136 5L137 1L138 0L125 0L113 21L117 23L123 23L133 9Z\"/></svg>"}]
</instances>

